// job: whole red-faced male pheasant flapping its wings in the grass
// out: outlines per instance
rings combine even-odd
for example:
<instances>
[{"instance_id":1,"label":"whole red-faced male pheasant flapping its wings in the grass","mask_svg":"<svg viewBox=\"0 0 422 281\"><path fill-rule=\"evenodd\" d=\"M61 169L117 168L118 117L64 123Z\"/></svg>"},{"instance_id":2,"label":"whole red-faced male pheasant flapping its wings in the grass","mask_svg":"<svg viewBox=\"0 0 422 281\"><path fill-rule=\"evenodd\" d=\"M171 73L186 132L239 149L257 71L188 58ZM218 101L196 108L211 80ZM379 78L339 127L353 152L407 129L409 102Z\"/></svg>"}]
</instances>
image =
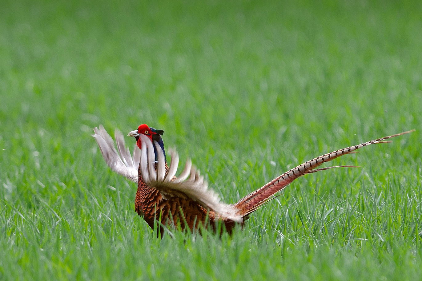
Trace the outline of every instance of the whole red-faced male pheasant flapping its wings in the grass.
<instances>
[{"instance_id":1,"label":"whole red-faced male pheasant flapping its wings in the grass","mask_svg":"<svg viewBox=\"0 0 422 281\"><path fill-rule=\"evenodd\" d=\"M108 166L119 174L138 183L135 196L135 211L157 230L157 236L163 235L164 227L179 226L181 229L195 230L202 225L212 230L224 229L232 233L235 225L243 226L249 215L275 198L275 194L289 185L293 180L305 174L332 168L358 166L330 166L316 169L322 163L331 161L342 155L355 153L357 149L367 145L387 143L385 141L396 136L408 134L415 130L384 136L360 145L354 145L318 156L281 174L266 185L241 198L235 204L222 203L219 196L211 189L200 172L192 166L188 158L184 170L176 177L179 166L179 155L169 150L170 166L167 164L162 135L164 131L142 124L131 131L128 136L136 139L133 156L125 146L124 137L119 130L115 131L116 151L113 139L103 126L94 128L100 151ZM138 148L140 149L138 149ZM219 228L219 224L224 227ZM156 228L155 228L156 227Z\"/></svg>"}]
</instances>

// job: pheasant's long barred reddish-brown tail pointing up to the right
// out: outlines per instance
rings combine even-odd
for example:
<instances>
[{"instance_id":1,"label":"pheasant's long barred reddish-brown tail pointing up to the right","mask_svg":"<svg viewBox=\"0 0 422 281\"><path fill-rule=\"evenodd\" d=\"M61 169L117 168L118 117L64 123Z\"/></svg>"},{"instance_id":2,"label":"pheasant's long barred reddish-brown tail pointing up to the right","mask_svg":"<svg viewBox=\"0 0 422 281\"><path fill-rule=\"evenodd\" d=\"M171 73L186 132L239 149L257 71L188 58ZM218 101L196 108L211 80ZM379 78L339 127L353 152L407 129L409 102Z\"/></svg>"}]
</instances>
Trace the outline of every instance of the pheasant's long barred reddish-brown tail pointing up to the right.
<instances>
[{"instance_id":1,"label":"pheasant's long barred reddish-brown tail pointing up to the right","mask_svg":"<svg viewBox=\"0 0 422 281\"><path fill-rule=\"evenodd\" d=\"M369 142L364 142L360 145L354 145L351 147L346 147L343 149L335 150L330 153L326 153L324 155L318 156L317 158L314 158L312 160L306 161L305 163L300 164L299 166L290 169L289 171L285 172L284 174L281 174L279 177L276 177L271 182L268 182L263 187L260 187L259 189L255 190L254 192L250 193L249 195L246 195L241 200L239 200L235 206L241 209L242 215L247 216L248 214L252 213L253 211L259 209L265 202L268 200L271 200L273 198L273 195L280 190L282 190L284 187L289 185L292 181L297 179L300 176L303 176L304 174L314 173L317 171L327 170L331 168L338 168L338 167L356 167L356 166L333 166L333 167L327 167L327 168L321 168L321 169L315 169L318 166L320 166L322 163L325 163L327 161L331 161L335 158L338 158L342 155L355 153L355 150L365 147L367 145L373 145L377 143L387 143L391 141L384 141L385 139L391 139L396 136L401 136L404 134L411 133L415 130L406 131L399 134L394 134L391 136L384 136L379 139L374 139Z\"/></svg>"}]
</instances>

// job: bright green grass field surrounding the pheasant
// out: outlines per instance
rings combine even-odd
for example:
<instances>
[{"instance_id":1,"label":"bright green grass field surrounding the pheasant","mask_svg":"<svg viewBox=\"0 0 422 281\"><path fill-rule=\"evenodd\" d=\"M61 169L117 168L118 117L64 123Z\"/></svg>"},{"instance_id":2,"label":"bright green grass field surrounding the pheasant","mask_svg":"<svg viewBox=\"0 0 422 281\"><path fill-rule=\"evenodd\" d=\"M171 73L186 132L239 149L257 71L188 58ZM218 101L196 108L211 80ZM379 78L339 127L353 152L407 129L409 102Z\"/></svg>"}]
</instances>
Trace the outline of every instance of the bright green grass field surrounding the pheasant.
<instances>
[{"instance_id":1,"label":"bright green grass field surrounding the pheasant","mask_svg":"<svg viewBox=\"0 0 422 281\"><path fill-rule=\"evenodd\" d=\"M3 1L0 279L421 280L422 2L283 2ZM231 237L157 240L90 136L141 123L227 203L417 131L296 180Z\"/></svg>"}]
</instances>

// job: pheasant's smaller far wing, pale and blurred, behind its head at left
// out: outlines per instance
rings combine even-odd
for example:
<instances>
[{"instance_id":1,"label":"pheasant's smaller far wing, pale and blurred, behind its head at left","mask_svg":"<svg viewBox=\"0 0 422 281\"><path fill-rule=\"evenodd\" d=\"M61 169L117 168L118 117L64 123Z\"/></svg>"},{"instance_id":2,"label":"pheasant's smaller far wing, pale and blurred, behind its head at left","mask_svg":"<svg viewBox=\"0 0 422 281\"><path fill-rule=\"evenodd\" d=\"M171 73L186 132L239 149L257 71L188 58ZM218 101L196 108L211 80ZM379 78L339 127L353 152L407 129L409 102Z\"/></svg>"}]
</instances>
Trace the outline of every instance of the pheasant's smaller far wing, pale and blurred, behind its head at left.
<instances>
[{"instance_id":1,"label":"pheasant's smaller far wing, pale and blurred, behind its head at left","mask_svg":"<svg viewBox=\"0 0 422 281\"><path fill-rule=\"evenodd\" d=\"M123 134L116 129L114 136L116 137L116 148L114 147L113 139L107 133L106 129L100 125L100 128L95 127L92 136L97 141L100 147L101 154L106 160L107 165L111 170L127 177L133 182L138 182L138 166L139 159L141 156L141 150L135 145L133 157L130 155L130 151L124 143Z\"/></svg>"}]
</instances>

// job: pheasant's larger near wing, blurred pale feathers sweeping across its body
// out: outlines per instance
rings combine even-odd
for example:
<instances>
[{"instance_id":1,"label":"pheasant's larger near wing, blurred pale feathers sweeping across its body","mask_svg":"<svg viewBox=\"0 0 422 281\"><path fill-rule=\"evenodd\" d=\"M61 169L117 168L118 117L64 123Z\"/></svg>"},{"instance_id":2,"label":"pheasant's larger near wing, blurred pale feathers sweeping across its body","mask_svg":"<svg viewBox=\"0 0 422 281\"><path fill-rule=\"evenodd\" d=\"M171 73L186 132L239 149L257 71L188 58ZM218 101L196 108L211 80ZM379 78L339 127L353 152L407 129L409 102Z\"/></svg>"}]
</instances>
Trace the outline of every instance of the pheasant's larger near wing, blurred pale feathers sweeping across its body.
<instances>
[{"instance_id":1,"label":"pheasant's larger near wing, blurred pale feathers sweeping across its body","mask_svg":"<svg viewBox=\"0 0 422 281\"><path fill-rule=\"evenodd\" d=\"M157 142L154 143L158 155L156 171L153 144L147 136L141 134L140 137L142 146L139 165L141 175L147 185L160 190L166 197L177 197L182 194L200 203L206 209L215 211L217 215L236 222L243 221L238 208L222 203L214 190L208 189L208 183L200 175L199 170L192 166L190 159L186 161L184 171L176 179L173 179L179 166L179 155L175 150L169 150L171 161L166 173L164 154Z\"/></svg>"}]
</instances>

